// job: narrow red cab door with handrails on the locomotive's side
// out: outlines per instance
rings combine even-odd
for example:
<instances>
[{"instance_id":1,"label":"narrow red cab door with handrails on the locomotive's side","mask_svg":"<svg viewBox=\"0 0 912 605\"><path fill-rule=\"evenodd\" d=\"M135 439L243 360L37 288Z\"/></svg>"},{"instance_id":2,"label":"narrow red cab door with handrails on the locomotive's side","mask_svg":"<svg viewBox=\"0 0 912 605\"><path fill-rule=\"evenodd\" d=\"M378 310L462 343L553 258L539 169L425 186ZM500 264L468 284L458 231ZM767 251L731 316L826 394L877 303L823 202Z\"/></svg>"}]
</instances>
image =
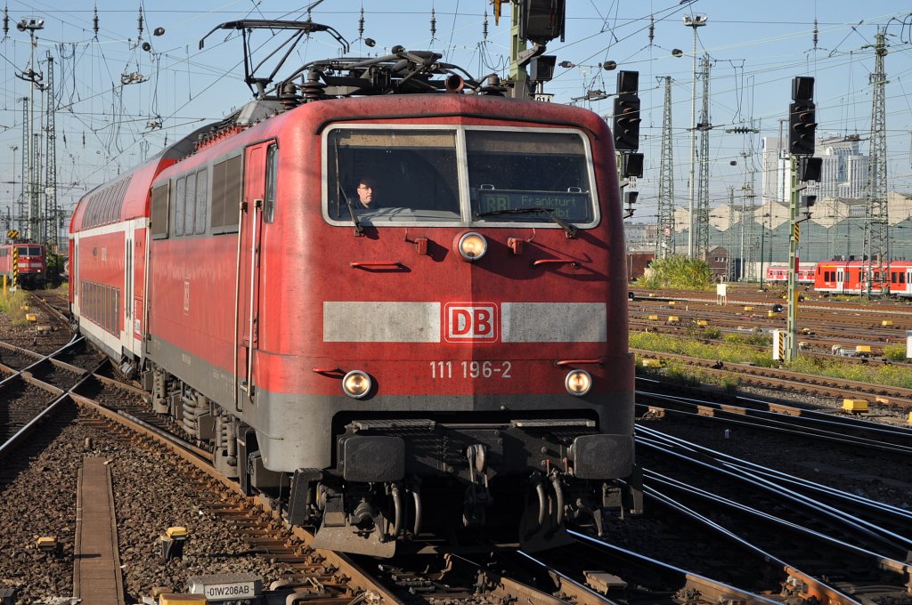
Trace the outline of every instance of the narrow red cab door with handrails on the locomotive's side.
<instances>
[{"instance_id":1,"label":"narrow red cab door with handrails on the locomotive's side","mask_svg":"<svg viewBox=\"0 0 912 605\"><path fill-rule=\"evenodd\" d=\"M248 147L244 156L244 205L239 225L238 262L238 381L247 399L254 392L254 364L259 348L260 247L263 236L266 148L269 143ZM242 403L239 401L239 404Z\"/></svg>"}]
</instances>

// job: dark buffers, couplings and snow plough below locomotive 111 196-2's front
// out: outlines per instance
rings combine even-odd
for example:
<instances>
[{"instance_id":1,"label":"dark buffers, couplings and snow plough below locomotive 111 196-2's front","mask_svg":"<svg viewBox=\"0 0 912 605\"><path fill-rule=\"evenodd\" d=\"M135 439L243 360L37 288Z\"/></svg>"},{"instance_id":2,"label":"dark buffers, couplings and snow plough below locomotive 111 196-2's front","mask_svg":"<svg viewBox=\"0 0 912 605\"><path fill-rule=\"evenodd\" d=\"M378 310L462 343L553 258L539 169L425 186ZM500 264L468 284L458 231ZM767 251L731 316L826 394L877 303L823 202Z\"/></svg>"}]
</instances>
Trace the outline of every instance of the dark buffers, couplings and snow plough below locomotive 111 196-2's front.
<instances>
[{"instance_id":1,"label":"dark buffers, couplings and snow plough below locomotive 111 196-2's front","mask_svg":"<svg viewBox=\"0 0 912 605\"><path fill-rule=\"evenodd\" d=\"M295 472L288 520L318 525L316 548L379 557L440 538L534 550L567 524L601 534L606 507L637 508L614 481L633 473L632 436L591 419L355 420L337 439L335 474Z\"/></svg>"}]
</instances>

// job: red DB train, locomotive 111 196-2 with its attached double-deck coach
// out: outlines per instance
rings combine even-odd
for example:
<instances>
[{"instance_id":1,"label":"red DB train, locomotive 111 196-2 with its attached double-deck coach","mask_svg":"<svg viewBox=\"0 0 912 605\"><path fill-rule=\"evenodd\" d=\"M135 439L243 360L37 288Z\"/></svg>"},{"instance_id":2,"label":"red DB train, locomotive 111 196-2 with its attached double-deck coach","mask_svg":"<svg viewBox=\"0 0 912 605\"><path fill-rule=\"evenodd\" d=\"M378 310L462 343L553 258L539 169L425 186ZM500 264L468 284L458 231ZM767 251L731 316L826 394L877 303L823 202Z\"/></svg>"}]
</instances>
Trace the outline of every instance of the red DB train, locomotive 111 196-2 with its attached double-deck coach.
<instances>
[{"instance_id":1,"label":"red DB train, locomotive 111 196-2 with its attached double-deck coach","mask_svg":"<svg viewBox=\"0 0 912 605\"><path fill-rule=\"evenodd\" d=\"M641 507L611 133L397 50L81 200L80 330L317 547L601 533Z\"/></svg>"}]
</instances>

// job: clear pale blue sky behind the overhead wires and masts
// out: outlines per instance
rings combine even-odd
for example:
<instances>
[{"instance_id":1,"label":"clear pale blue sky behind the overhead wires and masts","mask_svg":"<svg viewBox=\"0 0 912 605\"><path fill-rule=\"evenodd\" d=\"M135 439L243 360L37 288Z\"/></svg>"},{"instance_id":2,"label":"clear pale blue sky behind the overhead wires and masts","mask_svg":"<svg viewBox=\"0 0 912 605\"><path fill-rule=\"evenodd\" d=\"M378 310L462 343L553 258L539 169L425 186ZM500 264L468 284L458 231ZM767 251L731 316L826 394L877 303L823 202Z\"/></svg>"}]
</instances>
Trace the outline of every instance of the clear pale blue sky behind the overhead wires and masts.
<instances>
[{"instance_id":1,"label":"clear pale blue sky behind the overhead wires and masts","mask_svg":"<svg viewBox=\"0 0 912 605\"><path fill-rule=\"evenodd\" d=\"M656 215L664 77L672 78L676 205L688 203L694 28L684 25L685 15L708 17L707 25L696 29L696 46L697 55L707 54L710 60L710 206L727 201L730 188L740 196L751 180L761 193L762 138L779 137L793 77L815 78L818 134L858 134L866 152L873 44L883 27L888 190L912 191L912 9L907 2L567 0L567 5L565 39L548 43L546 54L573 67L556 68L544 92L554 95L553 102L573 103L610 119L617 71L603 64L614 61L618 70L639 72L640 151L646 162L637 183L637 220L651 222ZM6 0L5 6L8 31L0 41L3 217L22 190L24 108L31 105L23 99L34 98L36 132L44 128L40 115L48 97L53 101L58 203L72 210L85 191L252 97L244 84L239 33L219 30L201 50L203 36L227 21L308 15L306 5L275 0L196 0L190 5L177 0L70 0L65 9L57 3ZM348 56L384 55L401 45L440 52L443 60L476 77L506 77L510 6L503 5L499 25L490 0L322 0L309 15L349 42ZM16 29L32 16L44 19L44 28L35 32L34 52L28 31ZM160 27L164 32L157 36ZM376 40L376 46L366 46L367 38ZM254 32L260 58L275 47L270 46L275 39ZM673 54L674 49L681 53ZM343 55L331 36L314 34L297 47L286 67ZM47 85L48 56L54 64L53 96L50 87L37 90L21 77L34 60L34 70ZM700 78L698 111L702 86ZM594 100L605 96L599 91L607 97ZM733 128L759 132L726 132Z\"/></svg>"}]
</instances>

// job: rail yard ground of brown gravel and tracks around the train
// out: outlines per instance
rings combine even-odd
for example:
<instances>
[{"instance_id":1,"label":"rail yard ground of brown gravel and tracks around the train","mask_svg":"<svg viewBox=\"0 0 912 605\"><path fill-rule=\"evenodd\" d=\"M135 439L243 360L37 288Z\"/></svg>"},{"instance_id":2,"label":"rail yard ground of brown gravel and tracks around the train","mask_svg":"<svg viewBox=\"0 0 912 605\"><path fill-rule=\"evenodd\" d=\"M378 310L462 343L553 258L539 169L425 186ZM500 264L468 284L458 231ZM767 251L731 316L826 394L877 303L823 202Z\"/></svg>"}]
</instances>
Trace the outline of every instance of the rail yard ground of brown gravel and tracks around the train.
<instances>
[{"instance_id":1,"label":"rail yard ground of brown gravel and tracks around the train","mask_svg":"<svg viewBox=\"0 0 912 605\"><path fill-rule=\"evenodd\" d=\"M699 292L635 292L631 332L767 333L778 317L763 311L777 300L749 290L726 305ZM269 497L221 477L212 452L156 415L103 354L71 342L47 302L36 299L31 311L34 322L4 323L0 345L5 602L169 602L190 590L253 590L248 602L296 603L912 602L912 397L898 386L776 366L751 375L755 364L637 351L642 515L607 520L603 538L570 533L534 554L429 542L378 564L311 548L305 528L285 524ZM664 313L677 321L648 319ZM827 342L854 350L898 342L912 315L902 303L806 300L801 320L813 326L809 337L829 334ZM853 321L875 334L832 327ZM865 356L829 356L907 369L874 346ZM671 364L736 374L740 383L663 375ZM863 398L865 412L841 405ZM98 502L110 506L89 508ZM104 548L99 533L108 536Z\"/></svg>"}]
</instances>

